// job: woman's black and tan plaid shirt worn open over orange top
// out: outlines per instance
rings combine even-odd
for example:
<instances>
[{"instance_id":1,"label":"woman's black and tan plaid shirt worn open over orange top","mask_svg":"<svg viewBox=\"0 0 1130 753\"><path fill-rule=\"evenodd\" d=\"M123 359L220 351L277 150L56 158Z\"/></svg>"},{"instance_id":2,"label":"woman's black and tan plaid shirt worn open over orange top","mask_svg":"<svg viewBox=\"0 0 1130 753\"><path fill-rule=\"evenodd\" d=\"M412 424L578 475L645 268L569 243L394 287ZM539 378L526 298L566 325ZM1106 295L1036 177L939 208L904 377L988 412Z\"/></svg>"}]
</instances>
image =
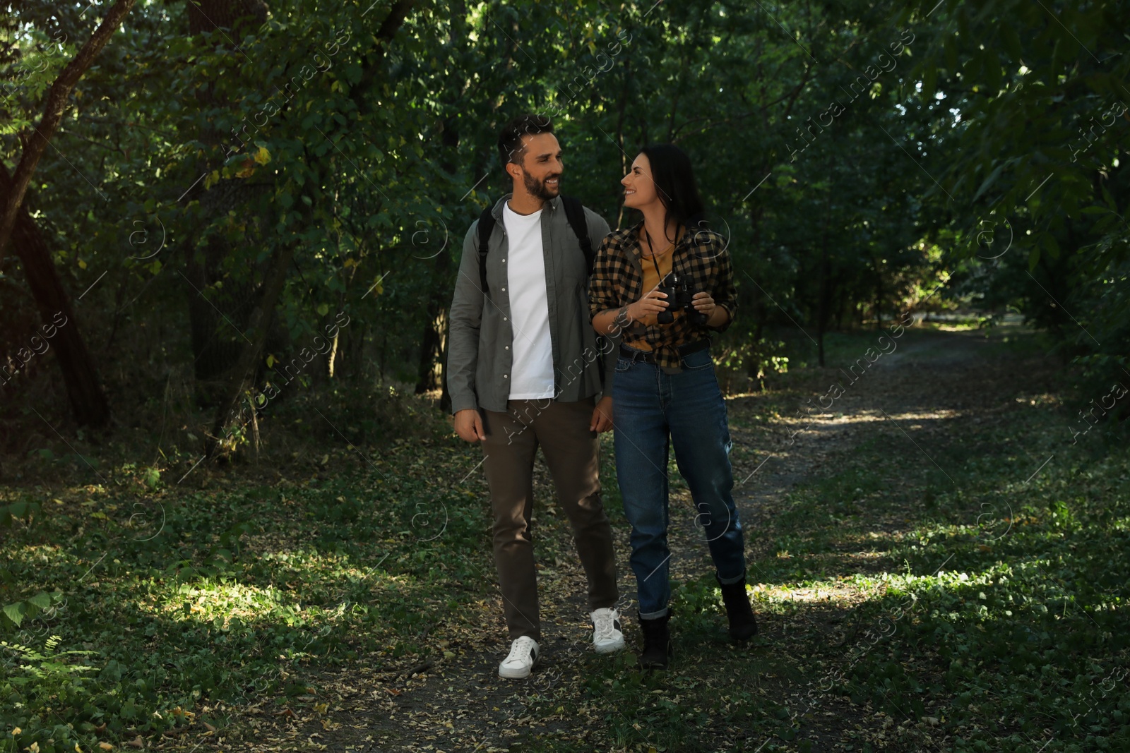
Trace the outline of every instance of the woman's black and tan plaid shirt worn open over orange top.
<instances>
[{"instance_id":1,"label":"woman's black and tan plaid shirt worn open over orange top","mask_svg":"<svg viewBox=\"0 0 1130 753\"><path fill-rule=\"evenodd\" d=\"M629 228L614 230L605 237L597 253L597 261L589 283L589 315L596 316L609 308L633 304L643 297L643 249L640 247L640 229L643 220ZM713 230L687 231L675 246L671 269L687 280L694 292L705 290L730 314L729 321L720 327L697 326L686 316L677 316L670 324L643 325L638 322L626 332L614 333L625 340L642 338L655 351L655 362L667 369L681 369L679 353L683 345L707 336L707 332L723 332L733 322L738 307L737 289L733 284L733 264L727 240Z\"/></svg>"}]
</instances>

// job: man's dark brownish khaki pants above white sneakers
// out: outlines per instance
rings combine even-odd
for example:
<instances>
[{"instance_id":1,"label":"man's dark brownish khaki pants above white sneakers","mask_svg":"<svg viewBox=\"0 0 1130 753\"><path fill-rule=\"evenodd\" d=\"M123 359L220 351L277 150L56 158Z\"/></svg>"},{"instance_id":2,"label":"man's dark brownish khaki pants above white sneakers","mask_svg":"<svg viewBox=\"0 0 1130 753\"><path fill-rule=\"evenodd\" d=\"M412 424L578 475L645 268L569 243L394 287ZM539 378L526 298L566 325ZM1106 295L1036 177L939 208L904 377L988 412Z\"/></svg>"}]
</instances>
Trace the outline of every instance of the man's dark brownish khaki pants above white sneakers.
<instances>
[{"instance_id":1,"label":"man's dark brownish khaki pants above white sneakers","mask_svg":"<svg viewBox=\"0 0 1130 753\"><path fill-rule=\"evenodd\" d=\"M592 397L575 403L512 400L506 413L481 411L495 567L511 640L529 636L541 641L530 527L539 445L588 576L589 610L610 607L619 597L612 531L600 501L600 443L589 430L593 404Z\"/></svg>"}]
</instances>

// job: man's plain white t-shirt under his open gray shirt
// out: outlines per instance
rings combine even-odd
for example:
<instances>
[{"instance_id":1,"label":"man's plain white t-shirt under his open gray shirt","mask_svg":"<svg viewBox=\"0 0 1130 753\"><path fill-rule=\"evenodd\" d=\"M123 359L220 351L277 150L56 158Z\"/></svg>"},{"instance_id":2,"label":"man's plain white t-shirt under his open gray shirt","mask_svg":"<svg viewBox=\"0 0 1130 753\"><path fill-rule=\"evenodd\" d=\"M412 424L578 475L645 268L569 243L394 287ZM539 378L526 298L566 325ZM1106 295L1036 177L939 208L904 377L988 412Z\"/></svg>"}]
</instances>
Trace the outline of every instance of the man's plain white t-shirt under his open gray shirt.
<instances>
[{"instance_id":1,"label":"man's plain white t-shirt under his open gray shirt","mask_svg":"<svg viewBox=\"0 0 1130 753\"><path fill-rule=\"evenodd\" d=\"M514 331L510 400L554 396L554 349L549 339L546 257L541 248L542 211L519 214L508 201L502 210L510 245L506 289Z\"/></svg>"}]
</instances>

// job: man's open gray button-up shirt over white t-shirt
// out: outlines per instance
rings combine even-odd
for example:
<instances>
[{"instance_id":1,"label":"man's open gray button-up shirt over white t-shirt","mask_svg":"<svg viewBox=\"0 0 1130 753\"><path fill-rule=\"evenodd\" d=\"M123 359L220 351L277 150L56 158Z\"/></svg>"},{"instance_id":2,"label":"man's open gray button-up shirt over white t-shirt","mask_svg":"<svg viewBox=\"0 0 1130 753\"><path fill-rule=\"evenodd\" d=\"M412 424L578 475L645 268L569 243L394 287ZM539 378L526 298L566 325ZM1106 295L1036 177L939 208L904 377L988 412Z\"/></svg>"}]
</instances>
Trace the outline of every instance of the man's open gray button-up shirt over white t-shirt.
<instances>
[{"instance_id":1,"label":"man's open gray button-up shirt over white t-shirt","mask_svg":"<svg viewBox=\"0 0 1130 753\"><path fill-rule=\"evenodd\" d=\"M486 296L480 288L478 220L463 238L447 343L447 391L452 413L468 408L504 413L510 400L514 327L521 331L522 326L511 316L510 291L506 290L510 243L502 210L510 196L503 196L490 210L495 228L486 261ZM584 219L593 252L597 252L608 235L608 222L588 208ZM580 242L565 217L560 196L547 201L541 212L541 248L554 353L554 400L576 402L598 393L611 395L617 343L606 338L603 345L597 344L597 333L589 317L589 270Z\"/></svg>"}]
</instances>

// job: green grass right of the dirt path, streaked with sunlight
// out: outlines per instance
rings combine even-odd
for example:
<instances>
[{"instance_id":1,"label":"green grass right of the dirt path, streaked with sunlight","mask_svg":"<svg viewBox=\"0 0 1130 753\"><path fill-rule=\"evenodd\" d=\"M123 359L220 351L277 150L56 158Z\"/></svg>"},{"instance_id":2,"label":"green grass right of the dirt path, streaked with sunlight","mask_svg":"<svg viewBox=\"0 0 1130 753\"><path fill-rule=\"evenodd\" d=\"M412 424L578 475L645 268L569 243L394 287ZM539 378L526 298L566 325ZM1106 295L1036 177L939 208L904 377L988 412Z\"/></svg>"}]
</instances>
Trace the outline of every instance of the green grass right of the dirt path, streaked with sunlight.
<instances>
[{"instance_id":1,"label":"green grass right of the dirt path, streaked with sunlight","mask_svg":"<svg viewBox=\"0 0 1130 753\"><path fill-rule=\"evenodd\" d=\"M782 399L731 405L732 424ZM1063 415L1028 402L932 435L932 461L888 428L796 488L749 533L771 544L751 577L773 642L724 641L699 558L676 584L670 673L594 657L580 699L562 688L532 713L602 724L616 750L1128 750L1130 458L1064 448Z\"/></svg>"}]
</instances>

